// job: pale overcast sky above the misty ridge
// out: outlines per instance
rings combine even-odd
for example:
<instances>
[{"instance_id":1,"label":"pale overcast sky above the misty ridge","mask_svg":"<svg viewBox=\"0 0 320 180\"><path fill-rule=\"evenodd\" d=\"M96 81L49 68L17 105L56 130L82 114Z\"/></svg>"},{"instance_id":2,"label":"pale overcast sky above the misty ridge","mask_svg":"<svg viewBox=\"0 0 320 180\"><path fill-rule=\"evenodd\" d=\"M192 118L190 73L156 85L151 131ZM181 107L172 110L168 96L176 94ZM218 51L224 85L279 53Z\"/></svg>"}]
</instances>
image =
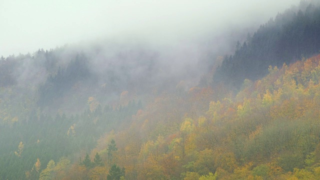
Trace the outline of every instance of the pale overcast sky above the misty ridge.
<instances>
[{"instance_id":1,"label":"pale overcast sky above the misty ridge","mask_svg":"<svg viewBox=\"0 0 320 180\"><path fill-rule=\"evenodd\" d=\"M0 0L0 55L100 38L170 43L264 23L300 0Z\"/></svg>"}]
</instances>

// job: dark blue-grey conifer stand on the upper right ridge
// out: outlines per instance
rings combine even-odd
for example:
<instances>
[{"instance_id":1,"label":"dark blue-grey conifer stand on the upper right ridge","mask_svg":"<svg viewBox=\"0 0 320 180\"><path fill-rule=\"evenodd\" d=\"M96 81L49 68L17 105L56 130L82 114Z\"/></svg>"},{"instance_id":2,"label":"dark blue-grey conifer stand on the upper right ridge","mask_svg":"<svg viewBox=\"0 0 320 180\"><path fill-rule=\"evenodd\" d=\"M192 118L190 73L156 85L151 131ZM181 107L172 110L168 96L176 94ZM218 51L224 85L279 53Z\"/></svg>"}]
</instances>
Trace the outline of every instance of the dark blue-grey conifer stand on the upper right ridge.
<instances>
[{"instance_id":1,"label":"dark blue-grey conifer stand on the upper right ridge","mask_svg":"<svg viewBox=\"0 0 320 180\"><path fill-rule=\"evenodd\" d=\"M299 7L293 6L260 25L243 43L238 41L235 52L224 56L213 81L239 87L245 78L256 80L267 74L269 65L282 66L319 50L319 3L301 1Z\"/></svg>"}]
</instances>

